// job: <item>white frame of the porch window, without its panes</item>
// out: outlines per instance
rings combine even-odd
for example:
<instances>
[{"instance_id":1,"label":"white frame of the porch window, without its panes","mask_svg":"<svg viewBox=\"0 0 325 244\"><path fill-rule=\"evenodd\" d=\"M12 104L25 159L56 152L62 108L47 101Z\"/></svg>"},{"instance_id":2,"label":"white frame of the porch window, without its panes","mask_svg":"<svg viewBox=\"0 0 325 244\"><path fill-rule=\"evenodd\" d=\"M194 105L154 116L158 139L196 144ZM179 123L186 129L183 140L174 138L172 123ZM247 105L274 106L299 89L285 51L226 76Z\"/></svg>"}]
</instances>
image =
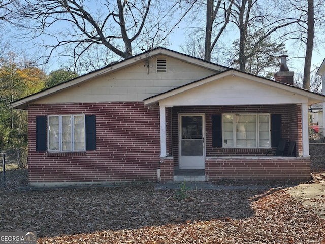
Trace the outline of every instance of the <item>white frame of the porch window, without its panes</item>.
<instances>
[{"instance_id":1,"label":"white frame of the porch window, without its panes","mask_svg":"<svg viewBox=\"0 0 325 244\"><path fill-rule=\"evenodd\" d=\"M233 121L233 146L225 146L225 141L224 141L224 116L226 115L232 115L234 116L234 121ZM240 147L237 146L237 138L236 138L236 116L239 115L256 115L256 147ZM259 128L259 119L260 116L269 116L269 146L261 146L260 145L260 128ZM263 148L263 149L268 149L271 148L271 114L269 113L224 113L222 114L222 147L223 148L245 148L245 149L256 149L256 148Z\"/></svg>"}]
</instances>

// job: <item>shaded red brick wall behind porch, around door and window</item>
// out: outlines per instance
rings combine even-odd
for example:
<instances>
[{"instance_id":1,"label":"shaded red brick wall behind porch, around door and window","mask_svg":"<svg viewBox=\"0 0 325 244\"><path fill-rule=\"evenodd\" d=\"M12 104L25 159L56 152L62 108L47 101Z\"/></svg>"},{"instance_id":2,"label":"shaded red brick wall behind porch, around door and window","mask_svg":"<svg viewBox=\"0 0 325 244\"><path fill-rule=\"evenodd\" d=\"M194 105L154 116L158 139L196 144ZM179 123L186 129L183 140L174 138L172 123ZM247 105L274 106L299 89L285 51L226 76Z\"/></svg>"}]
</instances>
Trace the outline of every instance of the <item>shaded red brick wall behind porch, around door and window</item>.
<instances>
[{"instance_id":1,"label":"shaded red brick wall behind porch, around door and window","mask_svg":"<svg viewBox=\"0 0 325 244\"><path fill-rule=\"evenodd\" d=\"M194 106L173 107L173 157L178 165L178 114L204 113L206 120L206 156L264 156L269 149L241 149L212 147L212 121L213 114L222 113L270 113L282 115L282 138L296 140L301 135L301 106L298 105L242 105L242 106ZM300 118L300 121L299 121ZM300 127L300 132L299 132ZM301 145L301 144L300 144Z\"/></svg>"}]
</instances>

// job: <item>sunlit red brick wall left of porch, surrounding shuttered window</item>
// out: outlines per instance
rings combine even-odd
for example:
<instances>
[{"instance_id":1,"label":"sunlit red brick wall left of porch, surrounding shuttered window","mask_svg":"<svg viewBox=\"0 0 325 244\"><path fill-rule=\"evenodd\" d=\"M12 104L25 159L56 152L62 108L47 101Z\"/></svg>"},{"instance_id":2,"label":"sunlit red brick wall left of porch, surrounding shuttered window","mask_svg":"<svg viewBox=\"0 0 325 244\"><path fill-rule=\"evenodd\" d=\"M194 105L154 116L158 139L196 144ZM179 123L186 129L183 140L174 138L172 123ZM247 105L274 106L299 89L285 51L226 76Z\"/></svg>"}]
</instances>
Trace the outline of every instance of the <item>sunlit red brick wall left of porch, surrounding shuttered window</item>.
<instances>
[{"instance_id":1,"label":"sunlit red brick wall left of porch, surrounding shuttered window","mask_svg":"<svg viewBox=\"0 0 325 244\"><path fill-rule=\"evenodd\" d=\"M36 152L36 116L96 115L97 150ZM156 180L160 162L159 107L141 102L30 105L29 182Z\"/></svg>"}]
</instances>

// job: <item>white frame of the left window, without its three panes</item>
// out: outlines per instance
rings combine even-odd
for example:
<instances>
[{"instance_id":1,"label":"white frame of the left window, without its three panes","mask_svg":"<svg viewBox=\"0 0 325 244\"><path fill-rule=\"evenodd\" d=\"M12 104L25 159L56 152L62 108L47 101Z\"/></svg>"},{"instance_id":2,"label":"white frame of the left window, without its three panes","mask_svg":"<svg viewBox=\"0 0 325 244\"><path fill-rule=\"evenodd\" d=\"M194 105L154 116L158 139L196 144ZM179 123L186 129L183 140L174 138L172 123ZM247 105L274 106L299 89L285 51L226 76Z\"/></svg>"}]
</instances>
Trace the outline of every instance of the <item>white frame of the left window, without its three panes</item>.
<instances>
[{"instance_id":1,"label":"white frame of the left window, without its three panes","mask_svg":"<svg viewBox=\"0 0 325 244\"><path fill-rule=\"evenodd\" d=\"M71 117L71 150L62 150L62 117L64 116L70 116ZM75 150L75 141L74 141L74 119L75 116L82 116L83 117L83 122L84 122L84 149L82 150ZM59 118L59 149L58 150L50 150L50 117L58 117ZM66 152L71 152L71 151L86 151L86 119L84 114L62 114L62 115L48 115L47 119L47 148L49 152L60 152L60 153L66 153Z\"/></svg>"}]
</instances>

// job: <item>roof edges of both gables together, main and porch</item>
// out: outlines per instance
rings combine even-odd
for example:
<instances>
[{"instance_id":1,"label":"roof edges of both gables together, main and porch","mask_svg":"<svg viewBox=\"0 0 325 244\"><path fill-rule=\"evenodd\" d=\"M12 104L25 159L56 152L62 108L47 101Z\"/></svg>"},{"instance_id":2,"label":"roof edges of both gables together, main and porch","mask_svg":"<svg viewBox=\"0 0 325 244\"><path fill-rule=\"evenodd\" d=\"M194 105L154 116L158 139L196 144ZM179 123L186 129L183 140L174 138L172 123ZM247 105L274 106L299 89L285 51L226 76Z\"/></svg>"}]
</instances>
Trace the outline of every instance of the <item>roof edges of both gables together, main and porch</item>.
<instances>
[{"instance_id":1,"label":"roof edges of both gables together, main and porch","mask_svg":"<svg viewBox=\"0 0 325 244\"><path fill-rule=\"evenodd\" d=\"M216 72L216 74L205 77L203 79L190 82L186 85L179 86L177 88L168 90L167 92L149 97L147 99L144 99L145 104L151 104L158 102L161 99L166 99L171 96L175 96L177 94L183 93L186 90L193 89L195 87L199 87L201 85L207 84L209 82L215 81L216 79L221 79L226 76L237 76L241 78L245 78L248 80L253 80L255 82L258 82L260 84L265 84L268 86L272 86L290 93L298 94L304 97L308 98L308 104L314 104L319 102L325 102L325 96L316 94L313 92L310 92L309 90L301 89L298 87L294 87L292 85L283 84L281 82L277 82L274 80L266 79L263 77L259 77L256 75L252 75L246 72L238 71L235 69L231 69L225 66L217 65L211 62L207 62L206 60L202 60L196 57L191 57L186 54L182 54L176 51L172 51L163 47L157 47L152 50L146 51L144 53L138 54L136 56L133 56L131 58L122 60L120 62L110 64L102 69L95 70L93 72L90 72L88 74L79 76L77 78L74 78L72 80L60 83L58 85L55 85L51 88L42 90L41 92L29 95L27 97L24 97L22 99L16 100L11 103L12 108L18 108L18 109L28 109L28 105L30 103L33 103L39 99L43 99L45 97L54 95L56 93L60 93L63 90L66 90L71 87L78 86L84 82L87 82L91 79L98 78L104 75L108 75L113 72L117 72L120 70L123 70L127 67L131 67L133 65L139 64L144 61L145 58L148 57L155 57L158 55L165 55L167 57L172 57L178 60L181 60L182 62L189 63L192 65L196 65L198 67L202 67L204 69L211 70L213 72Z\"/></svg>"}]
</instances>

